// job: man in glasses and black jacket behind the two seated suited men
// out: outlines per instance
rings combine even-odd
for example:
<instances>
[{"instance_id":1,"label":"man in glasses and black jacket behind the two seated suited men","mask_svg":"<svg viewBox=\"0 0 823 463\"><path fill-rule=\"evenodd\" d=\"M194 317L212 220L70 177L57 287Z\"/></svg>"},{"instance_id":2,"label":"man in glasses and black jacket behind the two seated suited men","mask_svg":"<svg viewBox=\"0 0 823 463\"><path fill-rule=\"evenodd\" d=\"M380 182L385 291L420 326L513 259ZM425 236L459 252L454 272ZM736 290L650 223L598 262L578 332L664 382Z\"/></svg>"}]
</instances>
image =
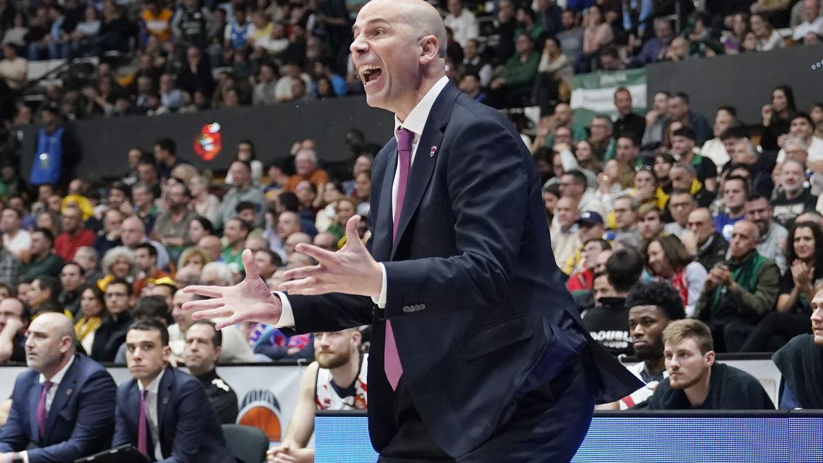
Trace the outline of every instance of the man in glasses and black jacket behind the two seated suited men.
<instances>
[{"instance_id":1,"label":"man in glasses and black jacket behind the two seated suited men","mask_svg":"<svg viewBox=\"0 0 823 463\"><path fill-rule=\"evenodd\" d=\"M115 278L105 288L105 306L109 314L103 319L91 345L91 358L98 362L114 362L117 349L126 341L132 324L133 288L123 278Z\"/></svg>"}]
</instances>

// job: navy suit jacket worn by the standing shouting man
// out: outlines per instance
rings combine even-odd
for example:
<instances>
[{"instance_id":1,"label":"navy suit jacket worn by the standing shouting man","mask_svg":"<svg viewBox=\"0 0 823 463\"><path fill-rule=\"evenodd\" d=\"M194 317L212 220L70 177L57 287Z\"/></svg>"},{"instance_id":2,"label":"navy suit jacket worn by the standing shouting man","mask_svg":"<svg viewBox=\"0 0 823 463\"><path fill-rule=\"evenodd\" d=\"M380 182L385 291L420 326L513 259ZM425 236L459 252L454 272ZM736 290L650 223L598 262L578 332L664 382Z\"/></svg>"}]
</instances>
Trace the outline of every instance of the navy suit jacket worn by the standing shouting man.
<instances>
[{"instance_id":1,"label":"navy suit jacket worn by the standing shouting man","mask_svg":"<svg viewBox=\"0 0 823 463\"><path fill-rule=\"evenodd\" d=\"M416 150L392 239L397 142L374 161L368 246L383 262L387 304L370 297L289 296L297 332L372 325L370 437L396 432L384 374L384 318L403 377L435 442L451 456L478 447L526 391L593 355L598 398L637 381L588 336L551 252L540 174L513 125L451 83L435 101ZM593 380L595 381L595 380Z\"/></svg>"}]
</instances>

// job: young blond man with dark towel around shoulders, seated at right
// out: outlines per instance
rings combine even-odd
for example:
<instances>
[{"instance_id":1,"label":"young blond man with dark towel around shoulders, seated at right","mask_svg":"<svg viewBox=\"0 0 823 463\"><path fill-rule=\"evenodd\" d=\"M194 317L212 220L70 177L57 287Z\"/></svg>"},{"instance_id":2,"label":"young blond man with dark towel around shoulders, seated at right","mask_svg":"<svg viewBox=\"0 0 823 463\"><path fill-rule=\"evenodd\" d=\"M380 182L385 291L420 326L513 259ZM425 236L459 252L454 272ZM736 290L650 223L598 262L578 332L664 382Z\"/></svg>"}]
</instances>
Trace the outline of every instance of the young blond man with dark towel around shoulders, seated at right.
<instances>
[{"instance_id":1,"label":"young blond man with dark towel around shoulders, seated at right","mask_svg":"<svg viewBox=\"0 0 823 463\"><path fill-rule=\"evenodd\" d=\"M675 320L663 330L668 377L649 398L650 410L760 410L774 403L754 376L714 361L709 326Z\"/></svg>"}]
</instances>

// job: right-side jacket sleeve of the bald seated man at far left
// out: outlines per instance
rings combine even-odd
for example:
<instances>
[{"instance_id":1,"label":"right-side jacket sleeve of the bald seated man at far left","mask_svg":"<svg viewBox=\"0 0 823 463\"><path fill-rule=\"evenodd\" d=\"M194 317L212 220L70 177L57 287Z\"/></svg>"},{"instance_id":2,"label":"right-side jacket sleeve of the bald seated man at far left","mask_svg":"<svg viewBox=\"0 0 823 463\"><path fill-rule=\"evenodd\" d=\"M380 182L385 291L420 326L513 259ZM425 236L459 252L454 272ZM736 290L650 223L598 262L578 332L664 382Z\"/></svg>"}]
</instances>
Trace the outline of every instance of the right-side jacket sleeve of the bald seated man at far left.
<instances>
[{"instance_id":1,"label":"right-side jacket sleeve of the bald seated man at far left","mask_svg":"<svg viewBox=\"0 0 823 463\"><path fill-rule=\"evenodd\" d=\"M30 450L29 462L74 461L105 447L114 423L116 391L117 386L109 373L95 372L81 390L77 391L82 396L77 403L77 421L72 437L66 442Z\"/></svg>"}]
</instances>

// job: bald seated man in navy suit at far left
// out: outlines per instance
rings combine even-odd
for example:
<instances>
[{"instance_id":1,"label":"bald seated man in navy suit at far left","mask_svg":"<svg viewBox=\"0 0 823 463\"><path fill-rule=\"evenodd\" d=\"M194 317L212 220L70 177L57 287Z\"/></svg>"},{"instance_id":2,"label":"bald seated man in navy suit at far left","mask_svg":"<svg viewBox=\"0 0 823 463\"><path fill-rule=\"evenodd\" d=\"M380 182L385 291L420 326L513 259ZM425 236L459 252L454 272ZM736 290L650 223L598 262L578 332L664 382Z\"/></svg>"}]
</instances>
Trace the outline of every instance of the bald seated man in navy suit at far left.
<instances>
[{"instance_id":1,"label":"bald seated man in navy suit at far left","mask_svg":"<svg viewBox=\"0 0 823 463\"><path fill-rule=\"evenodd\" d=\"M31 369L17 376L0 431L0 461L74 461L104 450L117 386L99 363L74 352L72 321L59 313L32 321L26 362Z\"/></svg>"}]
</instances>

